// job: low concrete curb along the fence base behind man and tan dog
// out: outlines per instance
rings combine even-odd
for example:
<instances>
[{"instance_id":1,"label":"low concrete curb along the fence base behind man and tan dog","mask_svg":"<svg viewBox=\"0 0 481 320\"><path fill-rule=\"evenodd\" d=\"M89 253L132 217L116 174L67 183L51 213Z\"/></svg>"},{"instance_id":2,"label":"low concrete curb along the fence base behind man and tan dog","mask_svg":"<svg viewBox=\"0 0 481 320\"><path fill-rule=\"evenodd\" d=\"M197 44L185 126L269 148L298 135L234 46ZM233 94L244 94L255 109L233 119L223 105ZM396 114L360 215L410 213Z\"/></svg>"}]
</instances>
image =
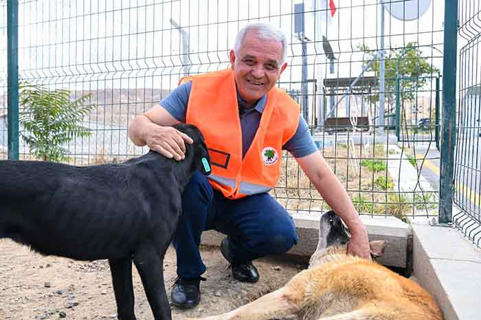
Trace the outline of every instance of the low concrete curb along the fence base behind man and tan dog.
<instances>
[{"instance_id":1,"label":"low concrete curb along the fence base behind man and tan dog","mask_svg":"<svg viewBox=\"0 0 481 320\"><path fill-rule=\"evenodd\" d=\"M289 213L293 216L300 241L287 254L298 260L309 261L317 248L320 213ZM379 263L401 268L409 267L410 258L407 255L407 252L410 252L408 240L411 237L411 230L409 225L394 217L361 216L361 219L368 229L370 240L388 242ZM201 244L219 246L223 237L216 231L206 231L202 234Z\"/></svg>"}]
</instances>

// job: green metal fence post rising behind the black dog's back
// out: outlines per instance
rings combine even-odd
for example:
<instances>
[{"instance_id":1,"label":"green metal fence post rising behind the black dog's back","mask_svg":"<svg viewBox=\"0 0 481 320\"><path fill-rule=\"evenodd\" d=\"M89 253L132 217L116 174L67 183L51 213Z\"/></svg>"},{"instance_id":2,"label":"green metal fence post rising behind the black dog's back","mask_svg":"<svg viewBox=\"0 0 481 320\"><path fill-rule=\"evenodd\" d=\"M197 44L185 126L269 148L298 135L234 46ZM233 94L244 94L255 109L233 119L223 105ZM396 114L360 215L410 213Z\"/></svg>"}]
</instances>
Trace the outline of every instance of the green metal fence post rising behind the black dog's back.
<instances>
[{"instance_id":1,"label":"green metal fence post rising behind the black dog's back","mask_svg":"<svg viewBox=\"0 0 481 320\"><path fill-rule=\"evenodd\" d=\"M19 159L19 1L7 1L8 159Z\"/></svg>"}]
</instances>

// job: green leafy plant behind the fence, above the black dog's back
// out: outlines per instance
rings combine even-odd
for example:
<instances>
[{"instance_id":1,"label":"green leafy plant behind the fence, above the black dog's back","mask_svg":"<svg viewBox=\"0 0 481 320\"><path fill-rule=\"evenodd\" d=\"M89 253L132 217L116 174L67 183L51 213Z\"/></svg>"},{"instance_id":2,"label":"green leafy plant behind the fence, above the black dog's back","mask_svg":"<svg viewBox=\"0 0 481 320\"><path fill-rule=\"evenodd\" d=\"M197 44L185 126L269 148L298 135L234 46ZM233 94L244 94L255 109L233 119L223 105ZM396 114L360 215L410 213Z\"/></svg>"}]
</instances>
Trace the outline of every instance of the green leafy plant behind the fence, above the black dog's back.
<instances>
[{"instance_id":1,"label":"green leafy plant behind the fence, above the black dog's back","mask_svg":"<svg viewBox=\"0 0 481 320\"><path fill-rule=\"evenodd\" d=\"M63 161L68 144L76 137L90 135L82 126L82 118L96 106L86 104L91 95L69 100L70 91L53 91L38 84L20 84L20 124L25 129L23 140L36 157L44 161Z\"/></svg>"}]
</instances>

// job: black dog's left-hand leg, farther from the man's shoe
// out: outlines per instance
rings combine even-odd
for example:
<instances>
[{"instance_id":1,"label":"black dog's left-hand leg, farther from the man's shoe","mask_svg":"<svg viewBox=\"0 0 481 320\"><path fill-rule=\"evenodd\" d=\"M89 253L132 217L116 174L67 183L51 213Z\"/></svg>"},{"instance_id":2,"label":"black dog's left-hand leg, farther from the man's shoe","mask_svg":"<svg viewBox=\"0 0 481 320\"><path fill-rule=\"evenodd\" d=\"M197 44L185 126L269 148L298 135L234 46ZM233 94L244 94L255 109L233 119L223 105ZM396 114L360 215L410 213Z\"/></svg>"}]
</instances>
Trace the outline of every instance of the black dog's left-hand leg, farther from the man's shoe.
<instances>
[{"instance_id":1,"label":"black dog's left-hand leg, farther from the man's shoe","mask_svg":"<svg viewBox=\"0 0 481 320\"><path fill-rule=\"evenodd\" d=\"M110 259L113 291L119 320L136 320L132 286L132 259Z\"/></svg>"}]
</instances>

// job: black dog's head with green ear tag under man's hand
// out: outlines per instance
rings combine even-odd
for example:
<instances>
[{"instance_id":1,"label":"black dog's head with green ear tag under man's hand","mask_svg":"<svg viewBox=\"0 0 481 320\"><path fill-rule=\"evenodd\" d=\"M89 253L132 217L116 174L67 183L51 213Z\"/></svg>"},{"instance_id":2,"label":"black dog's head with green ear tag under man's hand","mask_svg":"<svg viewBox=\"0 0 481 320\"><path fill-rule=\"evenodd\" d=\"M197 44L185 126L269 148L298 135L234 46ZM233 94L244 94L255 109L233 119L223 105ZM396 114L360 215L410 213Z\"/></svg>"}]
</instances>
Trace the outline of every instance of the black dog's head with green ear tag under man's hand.
<instances>
[{"instance_id":1,"label":"black dog's head with green ear tag under man's hand","mask_svg":"<svg viewBox=\"0 0 481 320\"><path fill-rule=\"evenodd\" d=\"M175 124L173 127L194 140L193 144L186 143L186 153L192 152L192 163L196 165L196 169L206 176L209 175L212 172L210 156L201 130L193 124Z\"/></svg>"}]
</instances>

